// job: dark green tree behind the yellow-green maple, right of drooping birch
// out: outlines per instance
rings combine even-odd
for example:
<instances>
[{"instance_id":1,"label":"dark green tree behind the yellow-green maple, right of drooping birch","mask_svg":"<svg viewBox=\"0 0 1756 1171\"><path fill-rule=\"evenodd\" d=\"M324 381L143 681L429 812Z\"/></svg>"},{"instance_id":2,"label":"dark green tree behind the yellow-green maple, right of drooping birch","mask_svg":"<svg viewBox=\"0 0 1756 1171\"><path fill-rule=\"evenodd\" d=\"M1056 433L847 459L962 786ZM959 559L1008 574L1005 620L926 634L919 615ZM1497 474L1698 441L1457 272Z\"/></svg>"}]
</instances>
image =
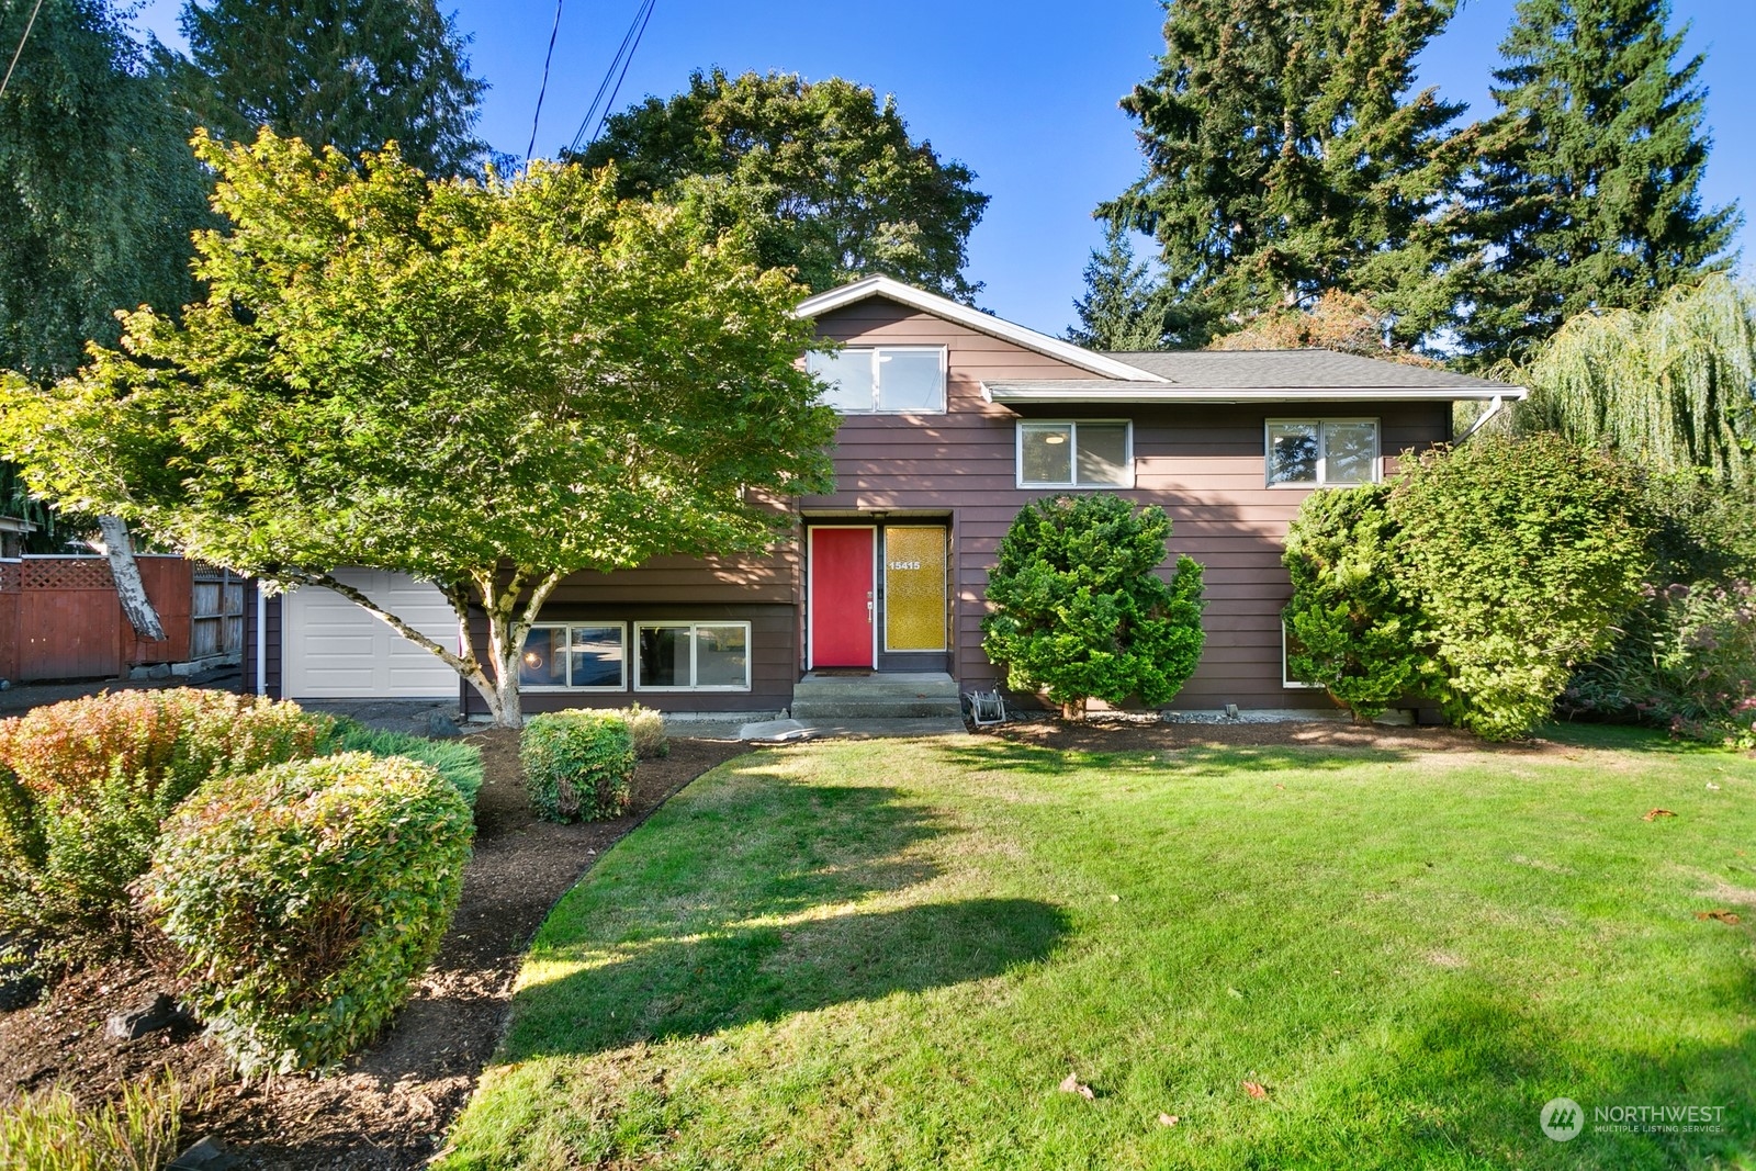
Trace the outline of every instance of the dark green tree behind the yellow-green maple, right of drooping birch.
<instances>
[{"instance_id":1,"label":"dark green tree behind the yellow-green maple, right of drooping birch","mask_svg":"<svg viewBox=\"0 0 1756 1171\"><path fill-rule=\"evenodd\" d=\"M472 174L488 83L434 0L188 0L184 97L235 142L260 126L358 160L395 140L430 176Z\"/></svg>"}]
</instances>

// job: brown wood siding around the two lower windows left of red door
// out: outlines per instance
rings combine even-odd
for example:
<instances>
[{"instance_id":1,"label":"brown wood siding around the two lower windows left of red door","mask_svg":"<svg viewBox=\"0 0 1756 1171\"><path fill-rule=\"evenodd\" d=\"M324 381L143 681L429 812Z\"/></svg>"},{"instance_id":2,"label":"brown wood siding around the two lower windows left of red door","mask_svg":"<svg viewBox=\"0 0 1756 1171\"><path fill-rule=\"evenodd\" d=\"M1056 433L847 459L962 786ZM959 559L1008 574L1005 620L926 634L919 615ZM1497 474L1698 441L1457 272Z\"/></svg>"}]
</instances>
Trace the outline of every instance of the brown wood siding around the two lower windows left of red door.
<instances>
[{"instance_id":1,"label":"brown wood siding around the two lower windows left of red door","mask_svg":"<svg viewBox=\"0 0 1756 1171\"><path fill-rule=\"evenodd\" d=\"M792 704L792 685L797 681L799 650L794 643L797 611L792 606L664 606L664 604L581 604L550 602L543 607L543 621L748 621L750 623L750 690L748 692L637 692L634 690L634 646L629 632L629 685L620 692L525 692L523 709L562 711L565 708L625 708L639 700L643 708L658 711L780 711ZM471 620L471 637L478 646L488 643L488 623L483 616ZM488 706L476 688L464 693L464 711L486 715Z\"/></svg>"}]
</instances>

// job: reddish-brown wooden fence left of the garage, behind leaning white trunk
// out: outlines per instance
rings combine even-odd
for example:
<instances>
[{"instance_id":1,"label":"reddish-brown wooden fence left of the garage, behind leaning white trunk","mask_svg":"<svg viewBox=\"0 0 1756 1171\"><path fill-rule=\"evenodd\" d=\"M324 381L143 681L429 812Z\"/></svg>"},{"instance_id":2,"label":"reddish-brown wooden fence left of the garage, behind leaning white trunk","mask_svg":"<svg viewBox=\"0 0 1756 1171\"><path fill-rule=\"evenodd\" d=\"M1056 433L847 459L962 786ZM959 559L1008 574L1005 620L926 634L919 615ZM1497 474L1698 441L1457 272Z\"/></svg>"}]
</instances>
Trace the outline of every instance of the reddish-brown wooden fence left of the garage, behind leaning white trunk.
<instances>
[{"instance_id":1,"label":"reddish-brown wooden fence left of the garage, behind leaning white trunk","mask_svg":"<svg viewBox=\"0 0 1756 1171\"><path fill-rule=\"evenodd\" d=\"M181 557L142 555L165 639L139 639L102 557L0 560L0 679L100 679L132 667L235 657L244 585Z\"/></svg>"}]
</instances>

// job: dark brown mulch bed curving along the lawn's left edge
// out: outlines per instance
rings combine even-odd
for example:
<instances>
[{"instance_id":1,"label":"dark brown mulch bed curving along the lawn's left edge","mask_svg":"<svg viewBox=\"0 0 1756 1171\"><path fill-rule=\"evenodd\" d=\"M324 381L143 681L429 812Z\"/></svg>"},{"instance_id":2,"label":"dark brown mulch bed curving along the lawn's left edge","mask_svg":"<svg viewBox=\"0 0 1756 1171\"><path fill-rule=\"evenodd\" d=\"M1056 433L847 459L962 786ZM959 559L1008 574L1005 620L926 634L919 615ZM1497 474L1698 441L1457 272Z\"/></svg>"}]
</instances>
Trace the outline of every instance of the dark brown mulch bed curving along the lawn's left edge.
<instances>
[{"instance_id":1,"label":"dark brown mulch bed curving along the lawn's left edge","mask_svg":"<svg viewBox=\"0 0 1756 1171\"><path fill-rule=\"evenodd\" d=\"M506 1027L513 978L555 901L667 797L745 744L673 739L643 760L625 816L551 825L530 815L518 734L479 732L486 783L476 801L476 855L464 899L414 997L367 1052L328 1078L241 1083L195 1025L111 1041L111 1013L176 992L140 964L63 981L35 1008L0 1013L0 1099L60 1083L97 1103L169 1069L184 1087L184 1134L220 1138L244 1167L404 1169L439 1150Z\"/></svg>"}]
</instances>

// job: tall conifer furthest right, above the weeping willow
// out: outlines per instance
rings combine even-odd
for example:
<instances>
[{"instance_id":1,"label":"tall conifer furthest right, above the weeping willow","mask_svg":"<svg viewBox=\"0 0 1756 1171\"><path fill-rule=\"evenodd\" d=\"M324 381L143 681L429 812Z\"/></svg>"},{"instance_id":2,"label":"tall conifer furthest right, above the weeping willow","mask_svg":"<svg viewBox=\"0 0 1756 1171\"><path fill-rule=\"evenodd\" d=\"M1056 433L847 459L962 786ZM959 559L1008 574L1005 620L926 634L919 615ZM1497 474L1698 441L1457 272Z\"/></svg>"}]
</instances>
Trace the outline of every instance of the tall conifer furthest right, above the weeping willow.
<instances>
[{"instance_id":1,"label":"tall conifer furthest right, above the weeping willow","mask_svg":"<svg viewBox=\"0 0 1756 1171\"><path fill-rule=\"evenodd\" d=\"M1472 191L1475 365L1528 360L1587 309L1645 309L1731 267L1731 207L1703 209L1703 58L1665 0L1521 0Z\"/></svg>"}]
</instances>

